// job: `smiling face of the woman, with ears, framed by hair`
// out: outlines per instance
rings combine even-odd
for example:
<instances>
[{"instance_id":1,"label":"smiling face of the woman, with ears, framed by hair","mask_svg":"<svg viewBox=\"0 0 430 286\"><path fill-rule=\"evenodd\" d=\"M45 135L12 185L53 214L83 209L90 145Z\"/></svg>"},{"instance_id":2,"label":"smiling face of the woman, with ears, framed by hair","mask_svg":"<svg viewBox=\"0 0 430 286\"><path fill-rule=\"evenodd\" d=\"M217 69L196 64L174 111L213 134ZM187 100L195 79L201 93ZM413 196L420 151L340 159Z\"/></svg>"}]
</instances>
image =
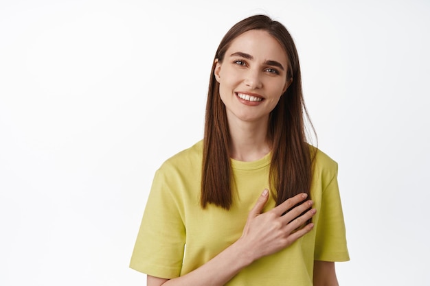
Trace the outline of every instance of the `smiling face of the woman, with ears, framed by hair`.
<instances>
[{"instance_id":1,"label":"smiling face of the woman, with ears, framed by hair","mask_svg":"<svg viewBox=\"0 0 430 286\"><path fill-rule=\"evenodd\" d=\"M286 80L288 59L278 40L253 29L234 39L215 78L227 119L267 121L291 80Z\"/></svg>"}]
</instances>

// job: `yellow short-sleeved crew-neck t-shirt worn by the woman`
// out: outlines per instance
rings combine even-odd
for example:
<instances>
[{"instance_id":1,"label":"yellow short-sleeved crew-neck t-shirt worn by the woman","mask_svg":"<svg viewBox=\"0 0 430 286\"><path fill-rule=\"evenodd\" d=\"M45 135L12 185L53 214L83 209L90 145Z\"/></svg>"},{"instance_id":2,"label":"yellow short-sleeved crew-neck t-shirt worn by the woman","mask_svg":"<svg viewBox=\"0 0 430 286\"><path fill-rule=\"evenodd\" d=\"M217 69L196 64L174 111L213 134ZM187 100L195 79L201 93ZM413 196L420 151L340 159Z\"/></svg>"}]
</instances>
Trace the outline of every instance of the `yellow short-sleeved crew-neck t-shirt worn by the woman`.
<instances>
[{"instance_id":1,"label":"yellow short-sleeved crew-neck t-shirt worn by the woman","mask_svg":"<svg viewBox=\"0 0 430 286\"><path fill-rule=\"evenodd\" d=\"M231 160L234 203L229 211L201 208L203 141L157 170L130 267L161 278L183 276L205 264L241 235L247 215L269 189L271 154L254 162ZM317 152L311 198L313 230L284 250L254 261L226 285L313 285L313 261L348 261L337 163ZM264 211L275 206L270 195Z\"/></svg>"}]
</instances>

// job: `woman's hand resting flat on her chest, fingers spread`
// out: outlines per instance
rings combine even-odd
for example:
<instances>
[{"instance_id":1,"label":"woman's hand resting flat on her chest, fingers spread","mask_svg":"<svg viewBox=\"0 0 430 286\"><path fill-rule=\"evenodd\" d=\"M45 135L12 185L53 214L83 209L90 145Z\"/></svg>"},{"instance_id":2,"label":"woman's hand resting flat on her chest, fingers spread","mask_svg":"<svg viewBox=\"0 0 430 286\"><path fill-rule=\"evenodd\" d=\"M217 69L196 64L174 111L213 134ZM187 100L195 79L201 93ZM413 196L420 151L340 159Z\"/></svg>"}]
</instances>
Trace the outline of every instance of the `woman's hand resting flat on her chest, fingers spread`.
<instances>
[{"instance_id":1,"label":"woman's hand resting flat on her chest, fingers spread","mask_svg":"<svg viewBox=\"0 0 430 286\"><path fill-rule=\"evenodd\" d=\"M313 228L313 224L306 221L315 215L313 202L306 200L306 193L295 195L267 213L262 213L264 204L269 198L269 191L264 190L258 202L249 212L242 237L237 242L245 243L249 249L249 259L255 261L269 254L278 252L294 241L306 235ZM302 204L299 204L302 202ZM295 208L290 208L299 204ZM309 211L309 208L311 208ZM286 211L288 211L286 213ZM304 213L306 211L306 213ZM284 214L285 213L285 214ZM302 213L304 213L302 215ZM284 214L284 215L282 215ZM303 226L303 227L302 227Z\"/></svg>"}]
</instances>

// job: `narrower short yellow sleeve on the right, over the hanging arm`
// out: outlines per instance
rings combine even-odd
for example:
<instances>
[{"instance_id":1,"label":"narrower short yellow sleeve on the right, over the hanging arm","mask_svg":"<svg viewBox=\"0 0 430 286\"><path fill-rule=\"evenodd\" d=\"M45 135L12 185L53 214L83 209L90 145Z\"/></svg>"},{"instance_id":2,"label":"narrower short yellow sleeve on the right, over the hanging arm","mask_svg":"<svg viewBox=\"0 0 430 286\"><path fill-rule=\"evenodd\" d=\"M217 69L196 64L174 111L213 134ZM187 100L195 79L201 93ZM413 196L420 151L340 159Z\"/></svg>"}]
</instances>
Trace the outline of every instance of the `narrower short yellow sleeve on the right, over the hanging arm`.
<instances>
[{"instance_id":1,"label":"narrower short yellow sleeve on the right, over the hanging arm","mask_svg":"<svg viewBox=\"0 0 430 286\"><path fill-rule=\"evenodd\" d=\"M337 164L335 171L328 178L323 178L322 182L325 185L322 186L314 259L319 261L348 261L350 257L346 244L346 228L337 183Z\"/></svg>"}]
</instances>

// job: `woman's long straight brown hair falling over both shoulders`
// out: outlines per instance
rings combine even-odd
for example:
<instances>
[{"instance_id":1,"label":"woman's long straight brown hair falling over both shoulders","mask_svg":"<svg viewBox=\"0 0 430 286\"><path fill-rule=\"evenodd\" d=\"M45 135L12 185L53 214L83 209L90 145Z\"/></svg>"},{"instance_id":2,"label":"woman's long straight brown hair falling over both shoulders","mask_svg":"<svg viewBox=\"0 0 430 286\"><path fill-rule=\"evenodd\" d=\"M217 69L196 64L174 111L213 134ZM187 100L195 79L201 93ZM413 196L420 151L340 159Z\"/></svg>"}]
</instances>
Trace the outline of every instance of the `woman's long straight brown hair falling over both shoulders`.
<instances>
[{"instance_id":1,"label":"woman's long straight brown hair falling over both shoulders","mask_svg":"<svg viewBox=\"0 0 430 286\"><path fill-rule=\"evenodd\" d=\"M231 194L231 162L229 157L230 134L225 105L220 99L219 83L215 79L216 60L223 62L231 42L251 30L267 31L282 45L288 58L287 80L293 80L278 105L269 115L268 138L272 143L269 182L276 204L298 193L310 195L313 155L306 143L304 119L310 119L304 105L299 58L293 38L287 29L269 16L255 15L229 29L221 40L212 65L207 93L205 134L203 137L203 170L201 180L201 206L215 204L229 209ZM310 123L310 127L313 126ZM315 130L313 130L315 134Z\"/></svg>"}]
</instances>

